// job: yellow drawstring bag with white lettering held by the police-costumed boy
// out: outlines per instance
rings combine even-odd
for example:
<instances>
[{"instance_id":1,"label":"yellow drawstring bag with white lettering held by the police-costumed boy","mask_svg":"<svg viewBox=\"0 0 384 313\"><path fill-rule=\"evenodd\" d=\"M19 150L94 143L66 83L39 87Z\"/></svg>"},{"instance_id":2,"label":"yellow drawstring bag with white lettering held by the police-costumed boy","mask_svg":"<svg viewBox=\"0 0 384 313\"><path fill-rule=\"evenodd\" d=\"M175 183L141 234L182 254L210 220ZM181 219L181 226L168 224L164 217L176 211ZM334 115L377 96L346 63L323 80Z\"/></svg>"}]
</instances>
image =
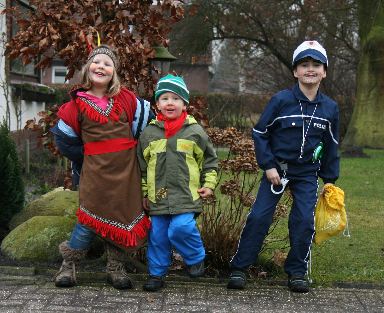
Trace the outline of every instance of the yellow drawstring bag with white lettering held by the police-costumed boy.
<instances>
[{"instance_id":1,"label":"yellow drawstring bag with white lettering held by the police-costumed boy","mask_svg":"<svg viewBox=\"0 0 384 313\"><path fill-rule=\"evenodd\" d=\"M313 242L318 244L339 232L348 229L347 214L344 209L344 191L333 185L326 185L314 209L314 228L316 235ZM346 237L349 236L345 235Z\"/></svg>"}]
</instances>

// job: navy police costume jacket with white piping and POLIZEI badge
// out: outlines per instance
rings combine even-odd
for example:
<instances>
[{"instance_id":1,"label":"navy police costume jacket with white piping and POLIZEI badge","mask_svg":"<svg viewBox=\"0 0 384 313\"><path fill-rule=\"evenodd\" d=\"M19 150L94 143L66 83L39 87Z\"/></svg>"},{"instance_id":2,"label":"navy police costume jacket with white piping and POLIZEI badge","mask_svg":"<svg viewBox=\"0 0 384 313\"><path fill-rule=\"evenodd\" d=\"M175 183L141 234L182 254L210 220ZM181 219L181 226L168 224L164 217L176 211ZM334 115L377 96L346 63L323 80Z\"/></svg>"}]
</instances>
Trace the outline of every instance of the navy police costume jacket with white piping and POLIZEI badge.
<instances>
[{"instance_id":1,"label":"navy police costume jacket with white piping and POLIZEI badge","mask_svg":"<svg viewBox=\"0 0 384 313\"><path fill-rule=\"evenodd\" d=\"M318 176L324 183L334 183L339 177L338 130L337 103L320 91L309 101L296 84L271 97L253 128L258 165L262 170L276 168L277 158L288 163L288 170L290 164L319 169ZM320 142L323 156L313 162L314 150Z\"/></svg>"}]
</instances>

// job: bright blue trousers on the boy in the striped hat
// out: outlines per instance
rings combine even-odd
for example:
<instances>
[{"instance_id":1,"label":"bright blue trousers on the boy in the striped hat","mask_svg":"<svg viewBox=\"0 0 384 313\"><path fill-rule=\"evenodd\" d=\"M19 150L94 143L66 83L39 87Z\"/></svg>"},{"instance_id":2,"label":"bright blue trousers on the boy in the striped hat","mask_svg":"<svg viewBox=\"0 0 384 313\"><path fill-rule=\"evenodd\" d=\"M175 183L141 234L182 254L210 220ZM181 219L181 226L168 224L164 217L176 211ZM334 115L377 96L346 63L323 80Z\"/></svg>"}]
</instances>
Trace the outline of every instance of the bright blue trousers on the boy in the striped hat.
<instances>
[{"instance_id":1,"label":"bright blue trousers on the boy in the striped hat","mask_svg":"<svg viewBox=\"0 0 384 313\"><path fill-rule=\"evenodd\" d=\"M171 262L172 244L185 264L193 265L204 260L205 250L194 215L195 213L151 216L147 259L152 275L166 275Z\"/></svg>"}]
</instances>

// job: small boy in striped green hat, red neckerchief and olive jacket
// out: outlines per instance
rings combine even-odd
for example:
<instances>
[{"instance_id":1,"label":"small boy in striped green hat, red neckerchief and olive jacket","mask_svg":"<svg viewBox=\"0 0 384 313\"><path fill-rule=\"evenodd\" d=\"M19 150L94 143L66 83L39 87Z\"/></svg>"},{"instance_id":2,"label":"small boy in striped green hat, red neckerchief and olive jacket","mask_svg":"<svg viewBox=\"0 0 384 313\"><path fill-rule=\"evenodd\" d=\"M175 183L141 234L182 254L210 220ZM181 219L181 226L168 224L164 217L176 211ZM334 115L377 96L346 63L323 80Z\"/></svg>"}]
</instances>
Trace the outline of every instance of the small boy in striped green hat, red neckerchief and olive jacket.
<instances>
[{"instance_id":1,"label":"small boy in striped green hat, red neckerchief and olive jacket","mask_svg":"<svg viewBox=\"0 0 384 313\"><path fill-rule=\"evenodd\" d=\"M150 274L144 290L164 286L172 244L190 277L204 273L205 250L194 217L217 185L217 155L210 138L187 115L189 91L182 78L159 80L155 100L160 110L137 145L143 206L151 216L147 259Z\"/></svg>"}]
</instances>

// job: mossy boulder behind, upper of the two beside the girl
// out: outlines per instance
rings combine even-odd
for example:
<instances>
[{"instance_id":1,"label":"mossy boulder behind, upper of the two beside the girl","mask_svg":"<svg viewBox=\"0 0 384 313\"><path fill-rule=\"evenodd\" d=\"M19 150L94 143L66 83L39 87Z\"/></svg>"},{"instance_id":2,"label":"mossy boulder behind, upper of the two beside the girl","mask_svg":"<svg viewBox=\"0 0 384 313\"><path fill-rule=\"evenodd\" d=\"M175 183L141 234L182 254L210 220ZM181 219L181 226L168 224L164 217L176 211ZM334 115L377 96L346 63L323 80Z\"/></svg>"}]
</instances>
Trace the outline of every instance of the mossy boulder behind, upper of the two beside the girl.
<instances>
[{"instance_id":1,"label":"mossy boulder behind, upper of the two beside the girl","mask_svg":"<svg viewBox=\"0 0 384 313\"><path fill-rule=\"evenodd\" d=\"M62 187L61 187L62 188ZM28 203L25 208L15 214L9 222L9 229L15 229L33 216L62 216L76 221L76 211L79 208L78 191L55 190L44 194L40 198Z\"/></svg>"}]
</instances>

